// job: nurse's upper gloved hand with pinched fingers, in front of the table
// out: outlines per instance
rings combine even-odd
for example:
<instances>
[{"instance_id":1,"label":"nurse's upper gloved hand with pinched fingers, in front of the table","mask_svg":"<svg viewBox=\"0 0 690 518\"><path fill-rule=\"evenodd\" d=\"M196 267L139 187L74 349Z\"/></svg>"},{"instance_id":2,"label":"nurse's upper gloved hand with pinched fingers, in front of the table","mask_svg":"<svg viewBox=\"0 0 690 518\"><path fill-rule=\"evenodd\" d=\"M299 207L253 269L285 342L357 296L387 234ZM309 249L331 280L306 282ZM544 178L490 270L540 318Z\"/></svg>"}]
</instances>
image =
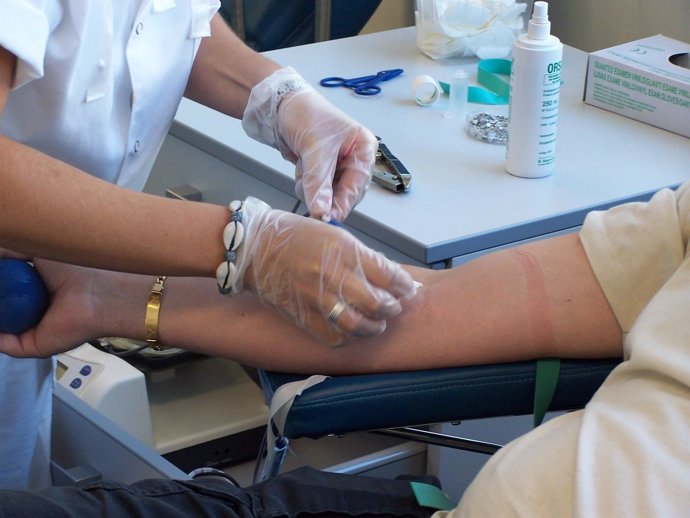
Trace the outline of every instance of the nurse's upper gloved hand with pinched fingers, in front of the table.
<instances>
[{"instance_id":1,"label":"nurse's upper gloved hand with pinched fingers, in front of the table","mask_svg":"<svg viewBox=\"0 0 690 518\"><path fill-rule=\"evenodd\" d=\"M342 221L364 196L376 137L292 68L277 70L252 89L242 127L296 165L295 192L313 217Z\"/></svg>"}]
</instances>

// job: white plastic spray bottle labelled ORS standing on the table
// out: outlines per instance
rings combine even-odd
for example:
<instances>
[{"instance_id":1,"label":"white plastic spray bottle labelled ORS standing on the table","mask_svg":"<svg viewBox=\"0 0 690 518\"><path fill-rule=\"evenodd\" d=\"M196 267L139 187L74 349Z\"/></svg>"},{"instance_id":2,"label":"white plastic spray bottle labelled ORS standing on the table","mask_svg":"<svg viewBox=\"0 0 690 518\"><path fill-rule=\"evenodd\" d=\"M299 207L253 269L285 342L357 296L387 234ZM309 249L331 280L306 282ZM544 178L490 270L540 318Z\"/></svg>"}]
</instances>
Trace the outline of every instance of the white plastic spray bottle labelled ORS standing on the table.
<instances>
[{"instance_id":1,"label":"white plastic spray bottle labelled ORS standing on the table","mask_svg":"<svg viewBox=\"0 0 690 518\"><path fill-rule=\"evenodd\" d=\"M546 2L534 2L527 33L513 44L506 171L524 178L553 173L563 45L551 35Z\"/></svg>"}]
</instances>

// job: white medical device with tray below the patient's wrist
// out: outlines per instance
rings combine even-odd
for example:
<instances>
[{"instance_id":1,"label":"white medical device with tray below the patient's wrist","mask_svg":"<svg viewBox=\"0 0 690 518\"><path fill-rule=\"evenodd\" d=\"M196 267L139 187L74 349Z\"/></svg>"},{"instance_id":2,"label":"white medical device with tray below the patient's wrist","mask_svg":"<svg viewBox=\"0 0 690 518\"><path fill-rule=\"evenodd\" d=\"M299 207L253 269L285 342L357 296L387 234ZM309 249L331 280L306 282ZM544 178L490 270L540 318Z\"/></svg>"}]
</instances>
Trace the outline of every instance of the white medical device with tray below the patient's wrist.
<instances>
[{"instance_id":1,"label":"white medical device with tray below the patient's wrist","mask_svg":"<svg viewBox=\"0 0 690 518\"><path fill-rule=\"evenodd\" d=\"M126 351L123 339L113 340ZM254 459L268 408L240 364L198 354L118 356L91 344L57 357L57 383L183 471Z\"/></svg>"}]
</instances>

